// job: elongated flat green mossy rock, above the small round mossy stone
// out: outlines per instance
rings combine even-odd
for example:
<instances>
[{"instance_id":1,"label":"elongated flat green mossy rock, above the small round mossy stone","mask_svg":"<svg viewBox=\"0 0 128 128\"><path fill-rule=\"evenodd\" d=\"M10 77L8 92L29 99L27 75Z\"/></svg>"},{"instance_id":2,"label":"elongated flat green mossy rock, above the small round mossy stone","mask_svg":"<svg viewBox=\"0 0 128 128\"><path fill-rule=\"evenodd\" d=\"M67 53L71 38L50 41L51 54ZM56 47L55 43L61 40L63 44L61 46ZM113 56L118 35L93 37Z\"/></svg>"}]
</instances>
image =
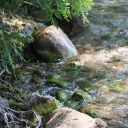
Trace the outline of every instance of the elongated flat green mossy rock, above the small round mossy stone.
<instances>
[{"instance_id":1,"label":"elongated flat green mossy rock, above the small round mossy stone","mask_svg":"<svg viewBox=\"0 0 128 128\"><path fill-rule=\"evenodd\" d=\"M66 87L69 86L69 83L68 82L62 81L62 80L50 79L46 83L48 83L48 84L56 84L60 88L66 88Z\"/></svg>"}]
</instances>

